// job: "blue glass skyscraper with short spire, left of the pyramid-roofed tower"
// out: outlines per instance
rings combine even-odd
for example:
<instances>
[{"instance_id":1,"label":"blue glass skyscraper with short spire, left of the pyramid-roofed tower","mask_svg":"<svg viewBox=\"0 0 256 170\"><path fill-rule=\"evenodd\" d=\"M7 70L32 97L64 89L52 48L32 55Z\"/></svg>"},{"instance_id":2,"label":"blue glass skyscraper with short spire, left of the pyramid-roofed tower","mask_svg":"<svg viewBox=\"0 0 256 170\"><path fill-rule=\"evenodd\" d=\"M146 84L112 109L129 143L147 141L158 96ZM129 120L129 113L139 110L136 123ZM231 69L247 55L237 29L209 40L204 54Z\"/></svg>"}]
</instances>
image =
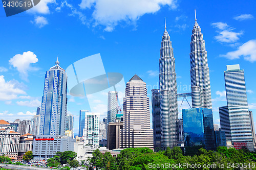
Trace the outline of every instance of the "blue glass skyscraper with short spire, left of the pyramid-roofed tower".
<instances>
[{"instance_id":1,"label":"blue glass skyscraper with short spire, left of the pyramid-roofed tower","mask_svg":"<svg viewBox=\"0 0 256 170\"><path fill-rule=\"evenodd\" d=\"M67 114L67 74L59 61L45 76L40 111L39 135L64 135Z\"/></svg>"}]
</instances>

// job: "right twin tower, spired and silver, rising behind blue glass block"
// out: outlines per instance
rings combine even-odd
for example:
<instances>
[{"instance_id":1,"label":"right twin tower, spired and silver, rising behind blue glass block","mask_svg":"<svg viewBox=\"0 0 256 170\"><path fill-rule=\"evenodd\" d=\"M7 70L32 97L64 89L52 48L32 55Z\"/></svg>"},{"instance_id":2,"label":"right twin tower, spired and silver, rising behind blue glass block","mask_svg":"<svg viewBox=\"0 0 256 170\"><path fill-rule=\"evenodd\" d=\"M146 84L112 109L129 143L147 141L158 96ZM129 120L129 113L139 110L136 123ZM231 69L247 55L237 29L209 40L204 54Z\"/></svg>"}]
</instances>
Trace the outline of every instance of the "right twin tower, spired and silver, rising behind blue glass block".
<instances>
[{"instance_id":1,"label":"right twin tower, spired and silver, rising behind blue glass block","mask_svg":"<svg viewBox=\"0 0 256 170\"><path fill-rule=\"evenodd\" d=\"M193 108L212 109L207 52L203 34L197 23L196 10L190 42L190 79Z\"/></svg>"}]
</instances>

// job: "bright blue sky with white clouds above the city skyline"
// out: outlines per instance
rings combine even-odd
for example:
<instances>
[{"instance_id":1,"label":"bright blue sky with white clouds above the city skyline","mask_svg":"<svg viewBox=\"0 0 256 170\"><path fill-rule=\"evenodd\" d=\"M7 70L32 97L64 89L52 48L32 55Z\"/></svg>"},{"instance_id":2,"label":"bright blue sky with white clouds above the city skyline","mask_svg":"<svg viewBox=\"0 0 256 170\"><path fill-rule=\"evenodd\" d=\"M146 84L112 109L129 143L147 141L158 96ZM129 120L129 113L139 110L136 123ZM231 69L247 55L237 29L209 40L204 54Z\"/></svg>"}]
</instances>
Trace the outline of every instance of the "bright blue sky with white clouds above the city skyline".
<instances>
[{"instance_id":1,"label":"bright blue sky with white clouds above the city skyline","mask_svg":"<svg viewBox=\"0 0 256 170\"><path fill-rule=\"evenodd\" d=\"M178 92L189 92L194 9L208 53L215 123L219 124L218 107L226 105L223 71L229 64L240 64L245 71L249 109L255 117L255 6L253 0L41 0L34 8L10 17L1 7L0 118L31 119L40 106L45 72L58 55L60 66L66 69L100 53L105 72L121 73L124 83L137 74L148 85L151 98L152 87L158 87L164 17L176 58ZM101 94L99 99L91 96L91 107L102 112L102 119L107 96ZM68 95L68 99L77 133L79 110L90 106L86 98ZM180 104L181 99L179 112L188 108Z\"/></svg>"}]
</instances>

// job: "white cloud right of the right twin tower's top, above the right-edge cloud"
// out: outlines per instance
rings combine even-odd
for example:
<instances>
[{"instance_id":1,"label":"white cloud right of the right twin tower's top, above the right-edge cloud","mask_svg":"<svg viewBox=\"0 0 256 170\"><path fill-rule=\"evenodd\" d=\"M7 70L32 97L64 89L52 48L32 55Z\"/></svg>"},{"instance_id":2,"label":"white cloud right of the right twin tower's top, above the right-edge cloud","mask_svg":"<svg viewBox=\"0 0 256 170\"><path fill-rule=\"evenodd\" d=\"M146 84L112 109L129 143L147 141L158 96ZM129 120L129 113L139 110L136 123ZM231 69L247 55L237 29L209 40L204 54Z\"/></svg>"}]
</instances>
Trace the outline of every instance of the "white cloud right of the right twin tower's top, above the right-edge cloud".
<instances>
[{"instance_id":1,"label":"white cloud right of the right twin tower's top, above the right-edge cloud","mask_svg":"<svg viewBox=\"0 0 256 170\"><path fill-rule=\"evenodd\" d=\"M234 43L239 40L239 37L243 35L243 32L233 32L233 28L229 27L227 23L223 22L215 22L211 23L211 26L218 28L217 33L219 35L215 36L214 38L219 42L225 42L225 43Z\"/></svg>"}]
</instances>

